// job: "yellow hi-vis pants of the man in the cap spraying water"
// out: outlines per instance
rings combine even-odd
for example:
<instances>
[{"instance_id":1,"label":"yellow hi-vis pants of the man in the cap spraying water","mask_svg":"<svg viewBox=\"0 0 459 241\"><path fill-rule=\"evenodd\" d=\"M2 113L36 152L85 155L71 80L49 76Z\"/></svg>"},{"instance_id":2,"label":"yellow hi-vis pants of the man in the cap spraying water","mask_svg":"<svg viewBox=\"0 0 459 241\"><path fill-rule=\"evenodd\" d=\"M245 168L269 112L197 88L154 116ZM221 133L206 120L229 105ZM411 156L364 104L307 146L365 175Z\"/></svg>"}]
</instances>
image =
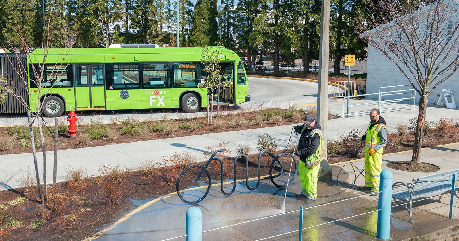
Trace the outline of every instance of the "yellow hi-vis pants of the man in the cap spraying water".
<instances>
[{"instance_id":1,"label":"yellow hi-vis pants of the man in the cap spraying water","mask_svg":"<svg viewBox=\"0 0 459 241\"><path fill-rule=\"evenodd\" d=\"M317 176L319 175L320 163L313 168L306 168L305 163L299 161L298 175L300 176L301 192L309 199L317 199Z\"/></svg>"}]
</instances>

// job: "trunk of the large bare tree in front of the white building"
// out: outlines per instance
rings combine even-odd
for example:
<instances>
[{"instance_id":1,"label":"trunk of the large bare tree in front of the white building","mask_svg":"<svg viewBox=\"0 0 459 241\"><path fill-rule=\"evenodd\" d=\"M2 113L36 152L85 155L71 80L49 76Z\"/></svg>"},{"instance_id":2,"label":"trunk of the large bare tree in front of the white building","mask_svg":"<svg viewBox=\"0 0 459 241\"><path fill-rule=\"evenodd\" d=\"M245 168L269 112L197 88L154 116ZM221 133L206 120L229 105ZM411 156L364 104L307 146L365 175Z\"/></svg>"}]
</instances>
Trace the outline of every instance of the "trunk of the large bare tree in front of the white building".
<instances>
[{"instance_id":1,"label":"trunk of the large bare tree in front of the white building","mask_svg":"<svg viewBox=\"0 0 459 241\"><path fill-rule=\"evenodd\" d=\"M416 122L416 131L414 135L413 156L411 157L412 165L422 167L420 151L422 148L422 139L424 137L424 122L427 113L427 94L423 94L419 100L419 113Z\"/></svg>"}]
</instances>

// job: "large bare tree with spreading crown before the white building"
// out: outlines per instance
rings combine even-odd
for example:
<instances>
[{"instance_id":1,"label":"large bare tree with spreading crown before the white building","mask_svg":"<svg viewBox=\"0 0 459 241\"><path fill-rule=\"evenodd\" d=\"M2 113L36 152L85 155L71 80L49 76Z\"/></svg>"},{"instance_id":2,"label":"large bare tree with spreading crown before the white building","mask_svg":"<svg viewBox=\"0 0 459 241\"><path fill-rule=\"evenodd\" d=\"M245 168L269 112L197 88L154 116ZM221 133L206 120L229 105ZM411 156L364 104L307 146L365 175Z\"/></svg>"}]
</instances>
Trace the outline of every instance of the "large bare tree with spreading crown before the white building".
<instances>
[{"instance_id":1,"label":"large bare tree with spreading crown before the white building","mask_svg":"<svg viewBox=\"0 0 459 241\"><path fill-rule=\"evenodd\" d=\"M459 5L455 0L380 0L370 1L366 10L356 16L359 34L420 95L411 164L422 166L427 97L459 68Z\"/></svg>"}]
</instances>

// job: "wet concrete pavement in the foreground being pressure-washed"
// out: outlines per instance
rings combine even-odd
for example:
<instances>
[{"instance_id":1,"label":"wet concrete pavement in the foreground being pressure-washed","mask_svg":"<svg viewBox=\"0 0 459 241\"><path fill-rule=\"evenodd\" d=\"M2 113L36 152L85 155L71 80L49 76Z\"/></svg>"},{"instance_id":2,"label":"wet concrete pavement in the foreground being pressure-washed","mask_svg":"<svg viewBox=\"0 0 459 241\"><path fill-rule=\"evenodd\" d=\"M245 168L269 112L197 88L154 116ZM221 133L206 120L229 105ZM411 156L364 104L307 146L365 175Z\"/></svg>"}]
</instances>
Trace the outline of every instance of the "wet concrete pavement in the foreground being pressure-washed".
<instances>
[{"instance_id":1,"label":"wet concrete pavement in the foreground being pressure-washed","mask_svg":"<svg viewBox=\"0 0 459 241\"><path fill-rule=\"evenodd\" d=\"M423 161L436 164L440 167L439 172L451 170L459 166L459 159L454 158L459 151L459 144L447 145L425 149L423 151ZM384 161L403 160L409 153L393 154L384 157ZM448 160L448 161L444 161ZM358 167L364 165L363 160L354 162ZM343 163L332 165L333 179L336 180L336 174L342 167ZM388 169L383 165L383 169ZM393 173L393 182L409 182L413 177L421 177L425 173L408 173L391 169ZM281 183L287 177L276 178ZM219 177L211 177L218 179ZM340 175L341 185L352 183L354 179L353 171L350 165L344 168ZM363 185L363 177L358 178L358 185ZM256 185L256 180L250 181L251 186ZM225 187L230 188L232 182L226 183ZM202 196L205 187L195 188L183 191L187 199L196 200ZM236 186L236 191L230 196L224 196L220 191L219 185L213 185L209 195L199 203L202 210L202 230L211 230L218 227L224 227L231 224L238 224L249 220L259 219L281 213L280 204L283 196L274 195L274 191L284 193L275 187L270 187L269 180L263 180L255 191L249 191L245 187L245 181L241 181ZM274 189L274 191L273 191ZM299 178L296 177L294 182L289 185L288 195L294 195L301 190ZM226 191L229 191L228 189ZM340 195L337 194L341 191ZM376 240L377 212L368 213L377 210L377 196L363 196L352 200L346 200L338 203L332 203L320 207L313 207L349 197L364 194L361 191L344 188L337 185L336 181L331 183L319 183L319 196L331 195L331 197L319 197L317 201L306 203L303 200L297 200L295 197L288 197L286 200L285 211L297 210L300 206L306 208L303 213L303 228L312 227L303 232L304 240ZM446 197L446 198L445 198ZM449 211L449 194L446 194L440 201L438 198L427 199L414 203L413 219L415 223L409 223L409 215L403 206L392 208L391 220L391 240L399 241L409 239L418 235L425 235L446 227L459 224L459 197L454 199L453 219L448 219ZM395 205L393 203L392 205ZM156 200L147 202L138 207L132 213L126 215L123 219L112 226L102 230L99 234L115 234L120 232L140 232L154 230L153 232L109 235L96 238L100 241L118 241L118 240L163 240L180 235L185 235L185 213L190 205L182 202L176 193L162 196ZM312 208L311 208L312 207ZM368 213L345 219L354 215ZM273 235L279 235L298 229L299 212L288 213L267 219L257 220L246 224L235 225L219 230L213 230L203 233L203 240L238 240L251 241L263 239ZM164 219L164 217L168 217ZM336 221L343 219L341 221ZM325 224L327 222L334 223ZM454 234L454 233L453 233ZM440 236L437 236L441 238ZM185 240L178 238L174 240ZM298 240L298 233L294 232L288 235L278 236L268 240ZM88 241L88 240L86 240Z\"/></svg>"}]
</instances>

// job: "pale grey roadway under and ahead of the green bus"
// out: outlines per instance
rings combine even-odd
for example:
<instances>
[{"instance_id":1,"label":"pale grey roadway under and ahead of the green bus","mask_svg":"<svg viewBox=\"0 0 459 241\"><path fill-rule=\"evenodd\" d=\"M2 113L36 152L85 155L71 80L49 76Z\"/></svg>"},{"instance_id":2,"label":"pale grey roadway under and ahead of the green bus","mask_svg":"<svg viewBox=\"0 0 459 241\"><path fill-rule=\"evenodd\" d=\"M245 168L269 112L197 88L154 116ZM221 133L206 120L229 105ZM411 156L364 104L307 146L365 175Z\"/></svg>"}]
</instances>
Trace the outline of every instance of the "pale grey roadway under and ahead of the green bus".
<instances>
[{"instance_id":1,"label":"pale grey roadway under and ahead of the green bus","mask_svg":"<svg viewBox=\"0 0 459 241\"><path fill-rule=\"evenodd\" d=\"M315 105L317 101L317 83L276 78L248 78L249 95L252 101L242 103L235 109L249 110L258 107L280 107L288 108L290 105L310 106ZM332 87L329 86L329 93L332 93ZM165 114L164 112L170 113ZM79 114L80 112L78 112ZM116 110L118 119L122 120L127 117L134 117L139 120L154 120L167 118L177 118L178 115L188 115L181 109L154 109L154 110ZM84 112L84 116L79 116L79 123L87 123L92 118L92 112ZM97 112L99 115L99 112ZM204 113L202 113L204 114ZM112 123L112 111L105 111L100 114L99 119L102 123ZM0 126L11 126L27 123L25 114L1 114ZM52 118L45 118L46 123L54 123Z\"/></svg>"}]
</instances>

